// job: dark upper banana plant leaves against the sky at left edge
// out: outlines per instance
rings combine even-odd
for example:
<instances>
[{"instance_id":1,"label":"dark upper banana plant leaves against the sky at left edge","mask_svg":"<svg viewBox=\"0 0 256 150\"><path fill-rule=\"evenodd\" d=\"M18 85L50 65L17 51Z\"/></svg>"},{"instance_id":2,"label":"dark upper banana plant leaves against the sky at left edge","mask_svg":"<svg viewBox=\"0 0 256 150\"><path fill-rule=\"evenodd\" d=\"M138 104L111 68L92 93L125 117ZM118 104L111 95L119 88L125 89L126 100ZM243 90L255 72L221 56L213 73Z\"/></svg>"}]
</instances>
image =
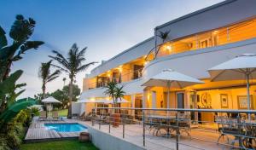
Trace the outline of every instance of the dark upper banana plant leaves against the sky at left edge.
<instances>
[{"instance_id":1,"label":"dark upper banana plant leaves against the sky at left edge","mask_svg":"<svg viewBox=\"0 0 256 150\"><path fill-rule=\"evenodd\" d=\"M8 78L13 61L19 61L26 50L38 49L44 43L29 41L35 26L36 21L32 18L26 20L22 15L16 15L16 20L9 32L9 37L13 39L11 45L8 45L6 32L0 26L0 82Z\"/></svg>"}]
</instances>

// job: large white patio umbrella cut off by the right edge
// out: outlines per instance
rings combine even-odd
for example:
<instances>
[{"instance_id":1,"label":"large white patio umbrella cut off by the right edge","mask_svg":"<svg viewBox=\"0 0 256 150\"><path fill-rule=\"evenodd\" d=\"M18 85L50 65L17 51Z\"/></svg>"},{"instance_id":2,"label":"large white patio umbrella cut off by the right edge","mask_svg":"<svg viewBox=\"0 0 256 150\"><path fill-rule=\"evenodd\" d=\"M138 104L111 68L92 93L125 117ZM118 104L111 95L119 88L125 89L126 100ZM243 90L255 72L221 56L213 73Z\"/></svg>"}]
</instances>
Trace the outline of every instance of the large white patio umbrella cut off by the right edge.
<instances>
[{"instance_id":1,"label":"large white patio umbrella cut off by the right edge","mask_svg":"<svg viewBox=\"0 0 256 150\"><path fill-rule=\"evenodd\" d=\"M250 78L256 78L256 55L244 54L208 70L212 81L239 80L247 82L247 109L250 109Z\"/></svg>"}]
</instances>

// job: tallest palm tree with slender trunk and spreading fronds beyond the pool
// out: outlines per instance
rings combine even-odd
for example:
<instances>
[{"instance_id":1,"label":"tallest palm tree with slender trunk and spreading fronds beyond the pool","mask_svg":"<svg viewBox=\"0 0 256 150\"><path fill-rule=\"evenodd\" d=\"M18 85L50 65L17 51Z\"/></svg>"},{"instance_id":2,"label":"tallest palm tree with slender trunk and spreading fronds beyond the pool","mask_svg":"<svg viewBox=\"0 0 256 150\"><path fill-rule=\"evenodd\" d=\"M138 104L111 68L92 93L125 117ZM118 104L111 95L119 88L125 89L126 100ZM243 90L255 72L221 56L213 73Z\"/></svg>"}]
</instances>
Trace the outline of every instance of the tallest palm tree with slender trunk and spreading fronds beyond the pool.
<instances>
[{"instance_id":1,"label":"tallest palm tree with slender trunk and spreading fronds beyond the pool","mask_svg":"<svg viewBox=\"0 0 256 150\"><path fill-rule=\"evenodd\" d=\"M65 58L61 53L53 50L55 56L49 55L50 58L57 61L58 65L52 65L59 68L62 72L66 72L70 79L69 84L69 107L67 118L72 117L72 98L73 98L73 82L78 72L85 71L89 66L95 64L96 62L90 62L88 64L84 64L83 62L86 60L84 58L84 54L87 47L79 51L79 48L76 43L73 44L72 48L69 49L67 53L67 58Z\"/></svg>"}]
</instances>

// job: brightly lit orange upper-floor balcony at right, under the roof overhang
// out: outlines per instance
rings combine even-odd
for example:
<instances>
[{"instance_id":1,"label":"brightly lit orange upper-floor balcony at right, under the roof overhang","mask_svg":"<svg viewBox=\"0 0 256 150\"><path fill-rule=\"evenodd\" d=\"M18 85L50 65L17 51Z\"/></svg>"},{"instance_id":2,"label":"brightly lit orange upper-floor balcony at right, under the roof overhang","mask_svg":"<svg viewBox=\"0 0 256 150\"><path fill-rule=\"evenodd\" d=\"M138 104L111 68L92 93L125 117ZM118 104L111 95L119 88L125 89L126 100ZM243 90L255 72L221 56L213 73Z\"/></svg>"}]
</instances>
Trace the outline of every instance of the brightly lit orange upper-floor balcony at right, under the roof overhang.
<instances>
[{"instance_id":1,"label":"brightly lit orange upper-floor balcony at right, under the roof overhang","mask_svg":"<svg viewBox=\"0 0 256 150\"><path fill-rule=\"evenodd\" d=\"M172 31L169 33L172 35ZM168 34L168 35L169 35ZM172 41L163 41L158 46L156 57L205 49L227 43L256 38L256 19L241 21L230 26L223 26L211 31L196 33Z\"/></svg>"}]
</instances>

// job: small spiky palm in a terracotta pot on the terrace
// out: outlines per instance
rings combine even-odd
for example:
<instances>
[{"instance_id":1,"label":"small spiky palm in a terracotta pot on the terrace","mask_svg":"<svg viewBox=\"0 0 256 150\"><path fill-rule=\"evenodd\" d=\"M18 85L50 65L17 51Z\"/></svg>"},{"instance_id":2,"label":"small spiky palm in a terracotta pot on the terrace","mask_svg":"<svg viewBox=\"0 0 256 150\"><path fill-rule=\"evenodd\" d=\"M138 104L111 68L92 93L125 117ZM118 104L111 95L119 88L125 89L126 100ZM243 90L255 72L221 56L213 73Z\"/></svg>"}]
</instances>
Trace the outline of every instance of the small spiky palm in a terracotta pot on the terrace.
<instances>
[{"instance_id":1,"label":"small spiky palm in a terracotta pot on the terrace","mask_svg":"<svg viewBox=\"0 0 256 150\"><path fill-rule=\"evenodd\" d=\"M113 100L113 107L118 107L118 100L122 100L125 96L125 91L123 90L124 86L118 86L115 81L111 81L108 83L106 87L105 95L108 95ZM121 115L119 113L119 109L114 109L114 113L110 114L110 120L112 122L113 127L119 127L119 122L121 120Z\"/></svg>"}]
</instances>

